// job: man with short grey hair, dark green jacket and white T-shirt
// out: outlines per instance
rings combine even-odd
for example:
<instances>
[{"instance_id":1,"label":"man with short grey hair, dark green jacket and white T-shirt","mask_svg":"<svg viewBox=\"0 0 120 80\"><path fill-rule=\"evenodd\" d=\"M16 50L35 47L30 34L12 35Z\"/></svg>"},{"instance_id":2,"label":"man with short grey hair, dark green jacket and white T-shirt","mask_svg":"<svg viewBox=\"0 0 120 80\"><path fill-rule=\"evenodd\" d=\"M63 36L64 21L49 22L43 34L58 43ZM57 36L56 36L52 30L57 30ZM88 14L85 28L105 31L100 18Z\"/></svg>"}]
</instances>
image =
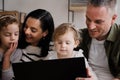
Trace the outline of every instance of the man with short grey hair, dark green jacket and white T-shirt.
<instances>
[{"instance_id":1,"label":"man with short grey hair, dark green jacket and white T-shirt","mask_svg":"<svg viewBox=\"0 0 120 80\"><path fill-rule=\"evenodd\" d=\"M116 18L116 0L89 0L87 29L81 29L79 48L99 80L120 80L120 26L115 24Z\"/></svg>"}]
</instances>

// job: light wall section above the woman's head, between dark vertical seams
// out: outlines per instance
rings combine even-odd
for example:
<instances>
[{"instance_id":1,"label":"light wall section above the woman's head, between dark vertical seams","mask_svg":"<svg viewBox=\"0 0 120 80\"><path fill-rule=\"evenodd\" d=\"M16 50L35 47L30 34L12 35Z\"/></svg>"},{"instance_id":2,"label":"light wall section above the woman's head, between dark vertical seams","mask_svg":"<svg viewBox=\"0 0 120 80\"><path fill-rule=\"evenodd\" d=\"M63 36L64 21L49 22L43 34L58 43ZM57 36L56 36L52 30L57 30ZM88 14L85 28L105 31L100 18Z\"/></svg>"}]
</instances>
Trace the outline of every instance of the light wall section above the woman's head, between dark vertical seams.
<instances>
[{"instance_id":1,"label":"light wall section above the woman's head, between dark vertical seams","mask_svg":"<svg viewBox=\"0 0 120 80\"><path fill-rule=\"evenodd\" d=\"M5 0L5 10L29 13L38 8L46 9L51 13L55 26L68 22L67 0Z\"/></svg>"}]
</instances>

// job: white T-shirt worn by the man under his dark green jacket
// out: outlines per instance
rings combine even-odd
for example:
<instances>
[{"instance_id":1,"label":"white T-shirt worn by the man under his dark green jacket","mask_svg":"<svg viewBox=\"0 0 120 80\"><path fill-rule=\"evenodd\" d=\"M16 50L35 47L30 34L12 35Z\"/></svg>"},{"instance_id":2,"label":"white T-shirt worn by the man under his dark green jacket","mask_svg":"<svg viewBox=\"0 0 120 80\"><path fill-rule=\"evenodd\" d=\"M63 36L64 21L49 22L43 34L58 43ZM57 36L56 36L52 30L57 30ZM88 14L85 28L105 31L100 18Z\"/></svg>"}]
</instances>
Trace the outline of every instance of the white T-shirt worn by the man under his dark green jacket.
<instances>
[{"instance_id":1,"label":"white T-shirt worn by the man under his dark green jacket","mask_svg":"<svg viewBox=\"0 0 120 80\"><path fill-rule=\"evenodd\" d=\"M108 67L108 59L105 53L104 40L98 41L96 39L92 39L88 62L99 80L113 79Z\"/></svg>"}]
</instances>

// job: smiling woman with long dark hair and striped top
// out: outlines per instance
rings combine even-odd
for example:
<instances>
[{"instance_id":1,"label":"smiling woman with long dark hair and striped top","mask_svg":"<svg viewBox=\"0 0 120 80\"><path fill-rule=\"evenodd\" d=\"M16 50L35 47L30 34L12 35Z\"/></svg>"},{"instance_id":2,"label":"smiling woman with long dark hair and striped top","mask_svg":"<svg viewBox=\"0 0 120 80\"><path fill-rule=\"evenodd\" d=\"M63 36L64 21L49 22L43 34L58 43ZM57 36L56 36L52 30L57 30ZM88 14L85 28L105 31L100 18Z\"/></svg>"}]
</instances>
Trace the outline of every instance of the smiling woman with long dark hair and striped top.
<instances>
[{"instance_id":1,"label":"smiling woman with long dark hair and striped top","mask_svg":"<svg viewBox=\"0 0 120 80\"><path fill-rule=\"evenodd\" d=\"M51 14L43 9L30 12L23 23L19 45L23 49L21 61L37 61L48 54L49 43L54 32Z\"/></svg>"}]
</instances>

